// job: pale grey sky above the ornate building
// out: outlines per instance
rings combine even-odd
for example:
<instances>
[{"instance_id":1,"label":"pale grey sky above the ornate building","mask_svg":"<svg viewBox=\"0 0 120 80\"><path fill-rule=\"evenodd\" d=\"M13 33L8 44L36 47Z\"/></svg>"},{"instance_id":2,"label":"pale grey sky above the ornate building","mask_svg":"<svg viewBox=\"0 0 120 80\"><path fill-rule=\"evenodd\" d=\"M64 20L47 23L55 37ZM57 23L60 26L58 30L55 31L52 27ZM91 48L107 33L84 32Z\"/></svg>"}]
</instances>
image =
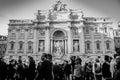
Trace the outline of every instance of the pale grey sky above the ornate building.
<instances>
[{"instance_id":1,"label":"pale grey sky above the ornate building","mask_svg":"<svg viewBox=\"0 0 120 80\"><path fill-rule=\"evenodd\" d=\"M0 0L0 35L8 34L10 19L35 19L37 10L48 10L57 0ZM120 21L120 0L61 0L68 9L81 9L86 17L111 17Z\"/></svg>"}]
</instances>

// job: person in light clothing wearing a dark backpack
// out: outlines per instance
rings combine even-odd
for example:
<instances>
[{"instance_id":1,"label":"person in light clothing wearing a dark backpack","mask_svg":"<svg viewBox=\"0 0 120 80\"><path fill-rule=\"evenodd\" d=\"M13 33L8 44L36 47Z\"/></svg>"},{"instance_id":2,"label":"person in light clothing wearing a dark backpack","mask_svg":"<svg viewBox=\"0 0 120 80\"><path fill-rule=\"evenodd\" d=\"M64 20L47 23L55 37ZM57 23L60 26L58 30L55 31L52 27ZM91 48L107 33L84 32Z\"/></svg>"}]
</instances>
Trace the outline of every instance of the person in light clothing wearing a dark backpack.
<instances>
[{"instance_id":1,"label":"person in light clothing wearing a dark backpack","mask_svg":"<svg viewBox=\"0 0 120 80\"><path fill-rule=\"evenodd\" d=\"M99 58L96 58L94 67L94 75L96 80L102 80L102 64L99 61Z\"/></svg>"}]
</instances>

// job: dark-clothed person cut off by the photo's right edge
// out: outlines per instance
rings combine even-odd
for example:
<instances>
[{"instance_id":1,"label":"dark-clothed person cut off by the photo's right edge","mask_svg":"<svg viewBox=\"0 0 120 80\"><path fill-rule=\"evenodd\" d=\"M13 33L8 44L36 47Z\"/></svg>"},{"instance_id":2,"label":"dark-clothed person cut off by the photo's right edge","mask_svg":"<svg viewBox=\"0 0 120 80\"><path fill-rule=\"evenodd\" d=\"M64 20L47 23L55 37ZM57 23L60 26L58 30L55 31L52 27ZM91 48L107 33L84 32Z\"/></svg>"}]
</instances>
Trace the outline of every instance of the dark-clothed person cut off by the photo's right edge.
<instances>
[{"instance_id":1,"label":"dark-clothed person cut off by the photo's right edge","mask_svg":"<svg viewBox=\"0 0 120 80\"><path fill-rule=\"evenodd\" d=\"M113 80L120 80L120 56L116 57L116 70L113 75Z\"/></svg>"}]
</instances>

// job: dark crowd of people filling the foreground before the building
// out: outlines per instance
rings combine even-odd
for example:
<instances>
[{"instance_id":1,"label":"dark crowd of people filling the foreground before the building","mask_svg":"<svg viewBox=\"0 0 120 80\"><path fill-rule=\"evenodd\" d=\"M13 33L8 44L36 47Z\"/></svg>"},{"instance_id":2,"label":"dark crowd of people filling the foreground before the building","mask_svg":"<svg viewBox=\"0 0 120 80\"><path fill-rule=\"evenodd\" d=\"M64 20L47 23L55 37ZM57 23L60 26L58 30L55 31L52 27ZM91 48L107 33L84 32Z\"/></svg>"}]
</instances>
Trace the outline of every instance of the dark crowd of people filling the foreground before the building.
<instances>
[{"instance_id":1,"label":"dark crowd of people filling the foreground before the building","mask_svg":"<svg viewBox=\"0 0 120 80\"><path fill-rule=\"evenodd\" d=\"M33 57L23 63L22 57L6 63L0 59L0 80L120 80L120 56L105 55L104 62L98 56L94 61L82 64L80 57L72 56L62 64L52 62L50 54L43 54L36 64Z\"/></svg>"}]
</instances>

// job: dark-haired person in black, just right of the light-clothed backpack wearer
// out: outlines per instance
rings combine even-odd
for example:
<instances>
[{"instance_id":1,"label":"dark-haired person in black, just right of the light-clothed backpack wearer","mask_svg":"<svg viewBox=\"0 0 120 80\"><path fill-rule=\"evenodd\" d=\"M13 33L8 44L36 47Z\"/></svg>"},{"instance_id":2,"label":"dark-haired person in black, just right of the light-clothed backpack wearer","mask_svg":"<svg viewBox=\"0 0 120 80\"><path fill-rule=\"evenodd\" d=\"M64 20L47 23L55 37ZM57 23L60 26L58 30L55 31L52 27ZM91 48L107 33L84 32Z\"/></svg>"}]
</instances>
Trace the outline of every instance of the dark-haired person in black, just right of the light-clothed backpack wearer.
<instances>
[{"instance_id":1,"label":"dark-haired person in black, just right of the light-clothed backpack wearer","mask_svg":"<svg viewBox=\"0 0 120 80\"><path fill-rule=\"evenodd\" d=\"M111 72L110 72L110 58L108 55L105 55L105 62L102 65L102 75L105 80L111 80Z\"/></svg>"}]
</instances>

